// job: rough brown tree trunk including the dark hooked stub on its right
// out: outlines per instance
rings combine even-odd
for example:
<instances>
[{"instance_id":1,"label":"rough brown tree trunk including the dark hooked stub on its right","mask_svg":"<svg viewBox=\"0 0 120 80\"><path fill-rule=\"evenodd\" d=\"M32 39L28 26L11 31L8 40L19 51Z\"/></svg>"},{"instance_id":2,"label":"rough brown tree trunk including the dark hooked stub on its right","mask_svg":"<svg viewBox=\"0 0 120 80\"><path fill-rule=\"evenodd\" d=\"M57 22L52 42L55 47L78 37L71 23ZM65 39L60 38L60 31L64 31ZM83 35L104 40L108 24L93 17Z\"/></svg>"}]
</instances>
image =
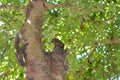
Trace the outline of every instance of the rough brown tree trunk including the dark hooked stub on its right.
<instances>
[{"instance_id":1,"label":"rough brown tree trunk including the dark hooked stub on its right","mask_svg":"<svg viewBox=\"0 0 120 80\"><path fill-rule=\"evenodd\" d=\"M32 0L26 8L26 20L19 31L25 47L26 80L64 80L68 69L64 44L58 39L52 52L42 49L42 31L45 6L43 0ZM62 46L61 46L62 45Z\"/></svg>"}]
</instances>

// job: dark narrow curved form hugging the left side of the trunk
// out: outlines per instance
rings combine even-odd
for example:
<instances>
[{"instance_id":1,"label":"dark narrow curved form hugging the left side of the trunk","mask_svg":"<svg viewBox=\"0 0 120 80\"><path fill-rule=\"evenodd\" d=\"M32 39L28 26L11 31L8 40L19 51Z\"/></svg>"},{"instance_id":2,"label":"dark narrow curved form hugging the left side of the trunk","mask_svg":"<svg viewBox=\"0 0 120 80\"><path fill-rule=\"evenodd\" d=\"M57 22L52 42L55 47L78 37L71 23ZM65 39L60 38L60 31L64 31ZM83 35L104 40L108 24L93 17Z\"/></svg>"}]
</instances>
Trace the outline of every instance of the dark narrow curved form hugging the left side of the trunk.
<instances>
[{"instance_id":1,"label":"dark narrow curved form hugging the left side of the trunk","mask_svg":"<svg viewBox=\"0 0 120 80\"><path fill-rule=\"evenodd\" d=\"M24 67L25 66L25 57L26 57L25 48L26 48L27 44L23 43L22 37L20 36L20 32L16 33L14 39L15 39L14 46L16 49L16 54L15 54L16 59L17 59L18 63Z\"/></svg>"}]
</instances>

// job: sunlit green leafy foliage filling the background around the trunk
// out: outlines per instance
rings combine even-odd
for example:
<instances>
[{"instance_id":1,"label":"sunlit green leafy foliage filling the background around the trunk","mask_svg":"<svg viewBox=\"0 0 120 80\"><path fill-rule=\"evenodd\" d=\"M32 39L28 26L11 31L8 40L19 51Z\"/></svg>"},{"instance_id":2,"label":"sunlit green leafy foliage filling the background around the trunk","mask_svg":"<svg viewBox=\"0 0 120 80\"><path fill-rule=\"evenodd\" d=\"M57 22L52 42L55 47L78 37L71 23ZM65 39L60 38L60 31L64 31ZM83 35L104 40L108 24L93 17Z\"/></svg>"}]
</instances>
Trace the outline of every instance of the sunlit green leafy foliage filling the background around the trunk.
<instances>
[{"instance_id":1,"label":"sunlit green leafy foliage filling the background around the trunk","mask_svg":"<svg viewBox=\"0 0 120 80\"><path fill-rule=\"evenodd\" d=\"M47 9L43 47L59 38L68 49L66 80L119 80L120 1L46 0L69 7ZM22 26L26 0L0 1L0 80L24 80L24 68L15 59L14 34Z\"/></svg>"}]
</instances>

